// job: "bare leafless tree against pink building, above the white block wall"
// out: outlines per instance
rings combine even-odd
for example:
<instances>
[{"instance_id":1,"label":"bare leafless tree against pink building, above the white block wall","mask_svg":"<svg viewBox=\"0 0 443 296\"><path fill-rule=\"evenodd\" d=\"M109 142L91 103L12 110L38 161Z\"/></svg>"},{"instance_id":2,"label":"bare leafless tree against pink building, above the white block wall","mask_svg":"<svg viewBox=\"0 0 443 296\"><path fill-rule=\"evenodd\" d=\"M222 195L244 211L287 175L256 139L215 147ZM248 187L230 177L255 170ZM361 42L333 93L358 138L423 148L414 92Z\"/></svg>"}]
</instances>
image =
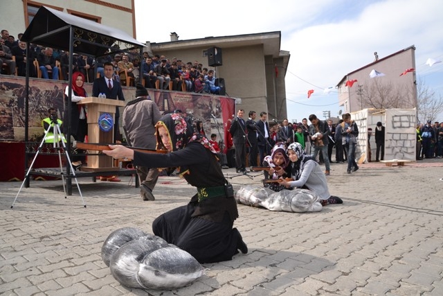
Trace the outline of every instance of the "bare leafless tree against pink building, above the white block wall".
<instances>
[{"instance_id":1,"label":"bare leafless tree against pink building, above the white block wall","mask_svg":"<svg viewBox=\"0 0 443 296\"><path fill-rule=\"evenodd\" d=\"M413 108L413 92L398 87L392 82L381 82L379 79L371 80L361 92L361 103L365 107L375 109Z\"/></svg>"}]
</instances>

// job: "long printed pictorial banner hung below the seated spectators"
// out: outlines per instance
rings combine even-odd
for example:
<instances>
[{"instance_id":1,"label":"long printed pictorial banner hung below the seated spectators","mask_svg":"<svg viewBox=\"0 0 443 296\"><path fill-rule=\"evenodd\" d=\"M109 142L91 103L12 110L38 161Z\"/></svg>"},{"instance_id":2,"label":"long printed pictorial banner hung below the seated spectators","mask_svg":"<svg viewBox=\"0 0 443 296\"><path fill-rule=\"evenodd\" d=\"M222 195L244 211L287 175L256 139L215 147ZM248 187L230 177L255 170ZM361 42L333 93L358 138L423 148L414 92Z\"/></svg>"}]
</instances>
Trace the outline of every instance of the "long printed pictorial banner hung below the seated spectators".
<instances>
[{"instance_id":1,"label":"long printed pictorial banner hung below the seated spectators","mask_svg":"<svg viewBox=\"0 0 443 296\"><path fill-rule=\"evenodd\" d=\"M60 119L64 112L64 89L66 81L30 78L28 137L30 141L42 137L42 119L47 110L55 107ZM92 84L85 83L84 89L91 95ZM202 95L190 92L161 92L148 89L150 97L159 106L161 113L181 110L194 120L204 123L206 136L217 134L217 140L225 139L226 123L235 112L235 99L224 96ZM135 98L134 87L123 87L125 101ZM0 141L24 141L25 127L25 78L1 76L0 81ZM123 107L120 107L123 114ZM121 116L120 116L121 119ZM67 120L67 119L66 119ZM121 129L120 122L120 132Z\"/></svg>"}]
</instances>

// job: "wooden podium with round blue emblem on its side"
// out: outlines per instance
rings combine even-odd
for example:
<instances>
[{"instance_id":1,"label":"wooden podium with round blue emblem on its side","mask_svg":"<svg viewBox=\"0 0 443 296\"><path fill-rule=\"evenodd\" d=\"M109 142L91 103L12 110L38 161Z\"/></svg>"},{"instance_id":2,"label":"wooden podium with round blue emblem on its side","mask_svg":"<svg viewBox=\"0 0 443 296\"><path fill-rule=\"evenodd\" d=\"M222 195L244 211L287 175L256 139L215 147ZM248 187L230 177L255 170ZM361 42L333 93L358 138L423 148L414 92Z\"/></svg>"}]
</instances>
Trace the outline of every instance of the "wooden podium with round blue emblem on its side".
<instances>
[{"instance_id":1,"label":"wooden podium with round blue emblem on its side","mask_svg":"<svg viewBox=\"0 0 443 296\"><path fill-rule=\"evenodd\" d=\"M96 98L89 96L78 102L78 105L87 106L88 142L89 143L114 143L114 126L106 132L100 128L100 116L109 114L113 122L116 119L116 107L125 106L124 101L109 98ZM118 123L117 123L118 124ZM108 127L109 128L109 127ZM94 153L91 151L91 153ZM96 151L95 153L98 153ZM107 155L88 155L88 166L82 166L82 171L115 171L112 157Z\"/></svg>"}]
</instances>

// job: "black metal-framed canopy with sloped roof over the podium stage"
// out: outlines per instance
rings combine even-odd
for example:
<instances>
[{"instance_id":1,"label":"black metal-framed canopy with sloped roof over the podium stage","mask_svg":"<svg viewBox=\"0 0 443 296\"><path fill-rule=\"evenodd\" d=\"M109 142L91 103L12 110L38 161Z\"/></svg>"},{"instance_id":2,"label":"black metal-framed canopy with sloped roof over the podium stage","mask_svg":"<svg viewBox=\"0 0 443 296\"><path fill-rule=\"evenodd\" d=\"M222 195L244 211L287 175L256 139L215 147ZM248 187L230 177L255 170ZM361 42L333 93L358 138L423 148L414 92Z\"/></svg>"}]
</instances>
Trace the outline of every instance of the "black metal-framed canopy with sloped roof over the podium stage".
<instances>
[{"instance_id":1,"label":"black metal-framed canopy with sloped roof over the podium stage","mask_svg":"<svg viewBox=\"0 0 443 296\"><path fill-rule=\"evenodd\" d=\"M28 28L21 37L21 41L35 43L42 46L53 47L69 52L69 97L72 94L72 64L73 52L84 55L91 55L96 58L117 53L128 52L132 49L139 49L142 55L144 44L138 42L127 33L116 28L111 28L98 24L88 19L82 19L75 15L69 15L52 8L42 6L35 17L30 22ZM28 46L29 47L29 46ZM26 51L26 101L25 101L25 141L28 141L28 121L29 121L29 51ZM67 147L71 147L71 104L67 104L68 119L65 123L67 127ZM66 119L64 119L66 121ZM71 158L71 149L67 149ZM26 155L26 167L27 167ZM71 172L66 166L66 179L68 180L68 191L71 195ZM29 186L29 184L27 184Z\"/></svg>"}]
</instances>

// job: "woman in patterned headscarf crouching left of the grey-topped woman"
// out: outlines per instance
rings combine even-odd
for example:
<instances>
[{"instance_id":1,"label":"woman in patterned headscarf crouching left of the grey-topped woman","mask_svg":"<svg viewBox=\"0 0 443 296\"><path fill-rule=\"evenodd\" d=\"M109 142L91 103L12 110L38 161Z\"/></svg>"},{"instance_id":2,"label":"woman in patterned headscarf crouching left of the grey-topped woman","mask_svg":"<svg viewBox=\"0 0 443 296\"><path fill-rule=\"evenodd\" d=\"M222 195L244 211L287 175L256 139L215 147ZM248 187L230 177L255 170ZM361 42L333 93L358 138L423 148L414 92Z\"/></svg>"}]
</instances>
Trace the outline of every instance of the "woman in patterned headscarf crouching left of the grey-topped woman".
<instances>
[{"instance_id":1,"label":"woman in patterned headscarf crouching left of the grey-topped woman","mask_svg":"<svg viewBox=\"0 0 443 296\"><path fill-rule=\"evenodd\" d=\"M278 183L280 177L286 177L285 168L289 164L289 158L286 154L284 143L276 143L271 150L271 155L263 159L263 166L269 166L269 171L263 171L265 180L275 180L275 182L264 183L265 187L278 192L282 191L284 186Z\"/></svg>"}]
</instances>

